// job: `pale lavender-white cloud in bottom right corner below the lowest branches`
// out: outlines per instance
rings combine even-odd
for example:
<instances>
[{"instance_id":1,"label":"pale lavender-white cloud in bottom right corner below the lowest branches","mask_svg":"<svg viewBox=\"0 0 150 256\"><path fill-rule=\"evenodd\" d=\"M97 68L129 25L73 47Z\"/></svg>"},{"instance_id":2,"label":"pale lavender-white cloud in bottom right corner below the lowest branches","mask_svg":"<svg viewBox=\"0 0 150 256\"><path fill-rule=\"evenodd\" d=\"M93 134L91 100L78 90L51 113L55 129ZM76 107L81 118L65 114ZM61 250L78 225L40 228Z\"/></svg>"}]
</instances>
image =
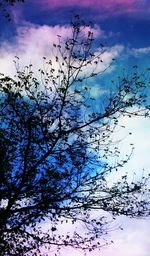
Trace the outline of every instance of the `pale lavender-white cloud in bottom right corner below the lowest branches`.
<instances>
[{"instance_id":1,"label":"pale lavender-white cloud in bottom right corner below the lowest branches","mask_svg":"<svg viewBox=\"0 0 150 256\"><path fill-rule=\"evenodd\" d=\"M120 217L123 231L112 234L114 244L102 251L103 256L149 256L150 220L133 220Z\"/></svg>"}]
</instances>

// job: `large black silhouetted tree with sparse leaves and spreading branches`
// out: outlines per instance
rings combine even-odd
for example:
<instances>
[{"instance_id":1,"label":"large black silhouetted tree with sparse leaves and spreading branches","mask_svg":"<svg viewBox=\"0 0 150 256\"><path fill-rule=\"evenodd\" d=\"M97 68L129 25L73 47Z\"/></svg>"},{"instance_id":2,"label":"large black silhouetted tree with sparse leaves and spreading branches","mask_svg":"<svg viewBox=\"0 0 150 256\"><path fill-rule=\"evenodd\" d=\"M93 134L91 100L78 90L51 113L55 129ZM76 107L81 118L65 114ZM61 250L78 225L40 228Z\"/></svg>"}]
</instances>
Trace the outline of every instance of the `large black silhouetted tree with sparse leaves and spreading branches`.
<instances>
[{"instance_id":1,"label":"large black silhouetted tree with sparse leaves and spreading branches","mask_svg":"<svg viewBox=\"0 0 150 256\"><path fill-rule=\"evenodd\" d=\"M118 78L116 84L112 81L97 102L87 80L108 67L103 66L105 47L100 45L95 54L93 44L91 27L76 16L70 38L63 42L59 36L52 59L44 57L45 66L37 76L32 65L18 69L15 78L1 74L3 256L43 255L44 245L93 250L102 246L97 239L107 232L106 212L113 218L149 215L144 197L147 178L128 183L123 176L111 186L107 183L110 172L130 159L129 153L120 160L112 139L119 118L149 115L147 80L133 67L130 75ZM110 156L115 163L108 160ZM95 210L98 218L92 217ZM46 233L45 221L50 227ZM61 235L57 229L64 221L80 222L88 231L83 236L80 230Z\"/></svg>"}]
</instances>

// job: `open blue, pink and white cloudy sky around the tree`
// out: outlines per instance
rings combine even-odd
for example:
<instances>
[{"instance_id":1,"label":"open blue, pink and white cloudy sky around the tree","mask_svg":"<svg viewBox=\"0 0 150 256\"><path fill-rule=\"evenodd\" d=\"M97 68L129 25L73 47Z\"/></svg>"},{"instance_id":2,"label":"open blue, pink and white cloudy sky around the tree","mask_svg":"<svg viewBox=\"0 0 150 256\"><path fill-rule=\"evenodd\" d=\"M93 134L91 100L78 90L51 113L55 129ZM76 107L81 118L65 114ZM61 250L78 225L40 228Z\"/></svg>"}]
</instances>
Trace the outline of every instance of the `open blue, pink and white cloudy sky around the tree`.
<instances>
[{"instance_id":1,"label":"open blue, pink and white cloudy sky around the tree","mask_svg":"<svg viewBox=\"0 0 150 256\"><path fill-rule=\"evenodd\" d=\"M22 66L32 63L35 69L40 67L42 57L50 56L57 35L63 38L69 35L69 23L76 14L91 21L96 40L107 44L108 50L103 56L105 63L109 64L113 57L116 58L109 74L96 80L93 96L97 97L102 83L106 88L108 80L117 77L124 68L130 70L137 64L143 71L150 65L149 0L26 0L24 4L10 8L10 13L11 22L0 15L0 73L15 74L14 56L20 58ZM131 140L135 144L133 157L124 171L140 173L144 169L148 173L150 121L141 118L121 122L126 124L127 133L128 130L133 133L130 138L126 134L117 135L125 137L122 152L126 152ZM121 218L120 222L124 231L110 234L114 244L93 255L149 256L150 220ZM81 252L68 253L82 255Z\"/></svg>"}]
</instances>

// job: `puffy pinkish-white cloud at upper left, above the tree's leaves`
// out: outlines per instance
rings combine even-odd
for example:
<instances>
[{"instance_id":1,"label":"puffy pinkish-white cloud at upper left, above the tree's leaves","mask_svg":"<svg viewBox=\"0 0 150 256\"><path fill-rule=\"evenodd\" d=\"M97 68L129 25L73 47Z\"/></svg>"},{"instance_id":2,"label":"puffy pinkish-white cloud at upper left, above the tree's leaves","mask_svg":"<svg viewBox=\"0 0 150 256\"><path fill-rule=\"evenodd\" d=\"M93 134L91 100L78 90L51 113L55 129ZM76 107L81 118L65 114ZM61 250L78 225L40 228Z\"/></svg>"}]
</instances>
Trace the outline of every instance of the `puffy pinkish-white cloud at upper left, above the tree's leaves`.
<instances>
[{"instance_id":1,"label":"puffy pinkish-white cloud at upper left, above the tree's leaves","mask_svg":"<svg viewBox=\"0 0 150 256\"><path fill-rule=\"evenodd\" d=\"M14 75L14 56L20 58L22 67L33 64L35 70L42 68L42 57L51 56L51 45L57 42L57 35L62 34L66 38L70 32L67 26L36 26L27 23L19 27L15 43L3 42L0 48L1 73Z\"/></svg>"}]
</instances>

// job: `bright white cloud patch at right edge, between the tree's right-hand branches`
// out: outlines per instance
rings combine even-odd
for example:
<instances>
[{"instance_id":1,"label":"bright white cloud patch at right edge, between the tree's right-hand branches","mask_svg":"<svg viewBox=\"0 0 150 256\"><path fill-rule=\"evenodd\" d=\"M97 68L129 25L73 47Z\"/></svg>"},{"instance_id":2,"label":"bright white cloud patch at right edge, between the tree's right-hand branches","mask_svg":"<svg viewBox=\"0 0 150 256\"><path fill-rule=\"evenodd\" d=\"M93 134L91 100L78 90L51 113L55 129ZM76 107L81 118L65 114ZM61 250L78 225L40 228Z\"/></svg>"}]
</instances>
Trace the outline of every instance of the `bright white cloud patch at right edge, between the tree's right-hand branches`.
<instances>
[{"instance_id":1,"label":"bright white cloud patch at right edge, between the tree's right-hand branches","mask_svg":"<svg viewBox=\"0 0 150 256\"><path fill-rule=\"evenodd\" d=\"M115 133L114 140L120 141L118 145L121 152L120 158L128 154L132 147L134 147L134 150L130 161L117 174L114 173L114 177L117 178L117 176L122 176L128 172L131 178L135 172L136 176L141 178L143 174L150 173L150 119L145 117L121 117L119 126L120 129ZM121 128L122 126L125 128Z\"/></svg>"}]
</instances>

